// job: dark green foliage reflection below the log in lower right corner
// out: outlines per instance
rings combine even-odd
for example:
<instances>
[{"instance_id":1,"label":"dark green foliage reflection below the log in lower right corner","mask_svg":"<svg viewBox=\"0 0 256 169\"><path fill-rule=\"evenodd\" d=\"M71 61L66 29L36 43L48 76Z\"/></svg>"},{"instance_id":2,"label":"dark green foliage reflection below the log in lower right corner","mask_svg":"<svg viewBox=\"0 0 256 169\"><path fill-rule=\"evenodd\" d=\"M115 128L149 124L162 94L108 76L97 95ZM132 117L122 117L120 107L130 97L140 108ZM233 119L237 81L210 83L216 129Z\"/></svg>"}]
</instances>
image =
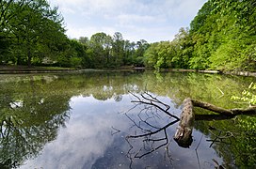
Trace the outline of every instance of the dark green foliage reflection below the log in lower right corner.
<instances>
[{"instance_id":1,"label":"dark green foliage reflection below the log in lower right corner","mask_svg":"<svg viewBox=\"0 0 256 169\"><path fill-rule=\"evenodd\" d=\"M200 110L207 114L207 111ZM209 135L210 146L223 158L227 168L255 168L255 116L237 115L230 120L196 120L195 128Z\"/></svg>"}]
</instances>

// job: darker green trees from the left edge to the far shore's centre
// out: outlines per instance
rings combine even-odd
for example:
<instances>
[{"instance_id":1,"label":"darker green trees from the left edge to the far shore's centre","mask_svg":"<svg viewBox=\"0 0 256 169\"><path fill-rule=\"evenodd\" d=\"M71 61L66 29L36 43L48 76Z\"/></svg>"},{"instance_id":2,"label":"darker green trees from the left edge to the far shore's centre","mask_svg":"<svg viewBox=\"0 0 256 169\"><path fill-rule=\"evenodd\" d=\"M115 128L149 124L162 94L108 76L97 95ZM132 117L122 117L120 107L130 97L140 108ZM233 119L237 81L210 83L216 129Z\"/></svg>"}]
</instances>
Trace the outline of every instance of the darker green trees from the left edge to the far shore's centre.
<instances>
[{"instance_id":1,"label":"darker green trees from the left edge to the far shore's centre","mask_svg":"<svg viewBox=\"0 0 256 169\"><path fill-rule=\"evenodd\" d=\"M63 18L46 0L0 1L1 65L117 68L143 65L146 40L130 42L117 32L69 39Z\"/></svg>"}]
</instances>

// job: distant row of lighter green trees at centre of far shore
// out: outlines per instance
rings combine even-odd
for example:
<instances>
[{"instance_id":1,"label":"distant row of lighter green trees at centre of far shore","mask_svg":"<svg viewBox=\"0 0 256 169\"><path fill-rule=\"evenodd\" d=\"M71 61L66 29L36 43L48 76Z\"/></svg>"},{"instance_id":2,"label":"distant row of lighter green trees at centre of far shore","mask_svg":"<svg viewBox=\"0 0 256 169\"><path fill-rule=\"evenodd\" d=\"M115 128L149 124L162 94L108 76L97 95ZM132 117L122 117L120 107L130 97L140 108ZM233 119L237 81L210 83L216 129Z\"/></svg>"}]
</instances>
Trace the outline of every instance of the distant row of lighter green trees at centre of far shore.
<instances>
[{"instance_id":1,"label":"distant row of lighter green trees at centre of far shore","mask_svg":"<svg viewBox=\"0 0 256 169\"><path fill-rule=\"evenodd\" d=\"M113 37L104 32L96 33L90 39L81 37L76 41L81 52L78 57L84 59L83 68L120 68L121 66L143 66L143 54L149 43L141 39L131 42L123 39L120 32ZM77 50L76 50L77 51Z\"/></svg>"}]
</instances>

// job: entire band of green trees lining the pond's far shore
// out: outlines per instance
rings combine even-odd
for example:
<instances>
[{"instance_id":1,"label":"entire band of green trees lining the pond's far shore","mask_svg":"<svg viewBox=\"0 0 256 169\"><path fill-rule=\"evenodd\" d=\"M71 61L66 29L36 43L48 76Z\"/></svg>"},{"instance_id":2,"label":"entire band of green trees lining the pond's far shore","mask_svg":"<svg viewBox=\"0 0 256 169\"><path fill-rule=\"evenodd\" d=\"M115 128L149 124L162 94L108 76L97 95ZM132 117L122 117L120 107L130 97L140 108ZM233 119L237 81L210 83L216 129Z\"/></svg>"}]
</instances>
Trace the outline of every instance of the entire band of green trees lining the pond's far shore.
<instances>
[{"instance_id":1,"label":"entire band of green trees lining the pond's far shore","mask_svg":"<svg viewBox=\"0 0 256 169\"><path fill-rule=\"evenodd\" d=\"M99 32L70 39L46 0L0 1L0 65L77 69L256 69L256 1L209 0L171 41Z\"/></svg>"}]
</instances>

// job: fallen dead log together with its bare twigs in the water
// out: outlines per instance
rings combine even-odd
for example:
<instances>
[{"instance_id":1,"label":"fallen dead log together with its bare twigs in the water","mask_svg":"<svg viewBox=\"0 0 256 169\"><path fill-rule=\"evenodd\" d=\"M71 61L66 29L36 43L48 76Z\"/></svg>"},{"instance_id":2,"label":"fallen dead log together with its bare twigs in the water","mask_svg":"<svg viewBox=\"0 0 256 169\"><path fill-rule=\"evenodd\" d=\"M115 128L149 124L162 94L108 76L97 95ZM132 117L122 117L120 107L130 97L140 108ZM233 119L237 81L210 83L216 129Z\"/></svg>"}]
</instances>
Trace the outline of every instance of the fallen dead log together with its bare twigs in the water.
<instances>
[{"instance_id":1,"label":"fallen dead log together with its bare twigs in the water","mask_svg":"<svg viewBox=\"0 0 256 169\"><path fill-rule=\"evenodd\" d=\"M136 106L140 105L143 108L140 109L137 114L136 118L138 118L138 122L127 113L125 114L134 123L133 127L136 127L136 129L140 131L140 134L136 134L135 131L135 135L127 136L126 139L128 143L129 139L138 138L144 138L143 142L152 143L152 145L155 144L155 142L165 141L164 144L152 147L152 149L147 152L141 153L141 150L139 150L138 152L141 154L138 155L137 153L135 156L136 158L142 158L143 156L152 153L155 149L167 145L167 129L169 126L175 124L178 121L180 121L180 123L176 133L174 134L174 140L178 143L179 146L189 147L193 142L192 131L194 128L195 120L221 120L230 119L235 115L256 115L256 107L248 107L246 109L225 109L222 107L217 107L216 105L208 102L187 98L184 100L184 108L180 119L178 116L169 112L170 106L168 104L164 103L161 100L158 100L156 97L152 96L152 94L148 92L144 92L139 95L131 93L131 95L136 98L136 100L132 100L131 102L134 102L136 103ZM136 106L133 109L135 109ZM195 112L193 111L194 107L200 107L202 109L215 112L219 115L195 115ZM168 122L168 124L166 123L166 125L164 126L152 125L152 119L157 121L160 118L174 119L171 122ZM162 136L159 136L160 132L163 133ZM220 137L217 138L219 139Z\"/></svg>"}]
</instances>

